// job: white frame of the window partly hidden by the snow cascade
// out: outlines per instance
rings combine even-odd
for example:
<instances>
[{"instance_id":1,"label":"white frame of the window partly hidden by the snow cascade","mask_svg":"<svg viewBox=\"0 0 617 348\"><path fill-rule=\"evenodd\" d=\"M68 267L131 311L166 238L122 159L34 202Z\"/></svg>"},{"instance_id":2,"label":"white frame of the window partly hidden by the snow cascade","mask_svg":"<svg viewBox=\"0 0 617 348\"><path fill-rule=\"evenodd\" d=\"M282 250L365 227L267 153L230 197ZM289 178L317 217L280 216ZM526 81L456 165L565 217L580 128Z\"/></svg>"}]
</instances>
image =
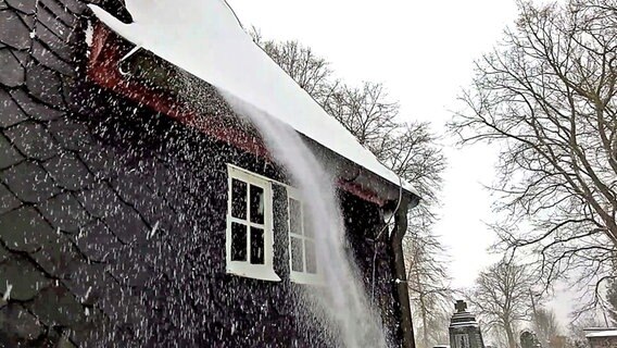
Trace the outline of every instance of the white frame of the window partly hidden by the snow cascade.
<instances>
[{"instance_id":1,"label":"white frame of the window partly hidden by the snow cascade","mask_svg":"<svg viewBox=\"0 0 617 348\"><path fill-rule=\"evenodd\" d=\"M298 234L292 234L291 233L291 208L290 208L290 203L289 200L293 199L300 202L300 225L302 228L302 235L298 235ZM291 282L293 283L299 283L299 284L312 284L312 285L323 285L324 284L324 274L322 272L320 269L320 263L319 260L317 258L317 253L315 253L315 262L316 262L316 272L317 273L307 273L307 272L298 272L298 271L293 271L293 249L291 248L291 237L295 237L295 238L301 238L301 239L310 239L315 244L315 250L317 248L317 244L315 240L315 233L313 232L313 237L306 237L304 235L304 201L302 199L302 195L300 194L300 190L298 190L294 187L291 186L287 186L287 228L288 228L288 249L289 249L289 278ZM304 244L302 244L303 248L304 248ZM302 252L303 254L303 265L304 268L306 266L306 252L305 249L303 250L304 252Z\"/></svg>"}]
</instances>

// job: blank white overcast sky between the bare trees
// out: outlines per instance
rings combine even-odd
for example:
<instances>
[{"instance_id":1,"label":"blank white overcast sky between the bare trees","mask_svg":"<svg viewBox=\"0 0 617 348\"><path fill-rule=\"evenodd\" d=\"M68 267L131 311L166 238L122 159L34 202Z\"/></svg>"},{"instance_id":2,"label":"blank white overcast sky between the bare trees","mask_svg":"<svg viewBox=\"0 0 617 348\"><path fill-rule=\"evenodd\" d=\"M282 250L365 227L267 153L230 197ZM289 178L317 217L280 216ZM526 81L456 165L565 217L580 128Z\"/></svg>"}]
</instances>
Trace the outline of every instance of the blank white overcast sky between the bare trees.
<instances>
[{"instance_id":1,"label":"blank white overcast sky between the bare trees","mask_svg":"<svg viewBox=\"0 0 617 348\"><path fill-rule=\"evenodd\" d=\"M495 46L517 14L514 0L227 1L245 28L257 27L266 39L310 46L347 83L383 83L400 101L404 120L430 121L439 133L470 82L474 60ZM481 185L493 181L496 152L448 146L445 154L436 232L452 258L452 285L468 287L499 258L487 253L494 237L482 222L491 210ZM567 306L556 310L564 320Z\"/></svg>"}]
</instances>

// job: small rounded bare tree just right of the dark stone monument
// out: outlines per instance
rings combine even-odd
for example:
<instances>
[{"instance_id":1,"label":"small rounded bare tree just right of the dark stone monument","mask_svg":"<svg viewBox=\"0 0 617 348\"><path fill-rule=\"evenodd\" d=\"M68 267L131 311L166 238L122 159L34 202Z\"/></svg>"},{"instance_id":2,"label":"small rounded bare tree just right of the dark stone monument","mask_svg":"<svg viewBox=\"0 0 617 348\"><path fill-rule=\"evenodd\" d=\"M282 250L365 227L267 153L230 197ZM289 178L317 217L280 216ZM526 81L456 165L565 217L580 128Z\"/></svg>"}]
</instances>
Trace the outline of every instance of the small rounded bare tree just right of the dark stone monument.
<instances>
[{"instance_id":1,"label":"small rounded bare tree just right of the dark stone monument","mask_svg":"<svg viewBox=\"0 0 617 348\"><path fill-rule=\"evenodd\" d=\"M530 315L529 288L532 285L526 266L504 259L480 272L467 301L488 330L503 332L508 347L516 348L517 327Z\"/></svg>"}]
</instances>

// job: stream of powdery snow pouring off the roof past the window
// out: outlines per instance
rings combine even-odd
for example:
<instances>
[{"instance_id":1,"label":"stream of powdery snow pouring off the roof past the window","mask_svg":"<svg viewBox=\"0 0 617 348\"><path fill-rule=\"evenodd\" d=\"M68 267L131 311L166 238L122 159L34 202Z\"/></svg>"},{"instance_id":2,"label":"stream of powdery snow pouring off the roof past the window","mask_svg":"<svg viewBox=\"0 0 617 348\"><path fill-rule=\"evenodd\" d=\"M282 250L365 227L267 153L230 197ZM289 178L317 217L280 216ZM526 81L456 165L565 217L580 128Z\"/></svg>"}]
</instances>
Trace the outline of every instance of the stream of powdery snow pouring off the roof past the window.
<instances>
[{"instance_id":1,"label":"stream of powdery snow pouring off the roof past the window","mask_svg":"<svg viewBox=\"0 0 617 348\"><path fill-rule=\"evenodd\" d=\"M344 225L332 178L295 130L229 94L221 92L238 114L250 119L270 153L291 174L302 192L311 224L316 226L317 262L325 281L324 288L307 287L307 291L313 291L310 294L313 302L320 307L315 308L315 312L325 311L329 320L337 323L333 332L347 347L386 347L379 315L373 311L343 247Z\"/></svg>"}]
</instances>

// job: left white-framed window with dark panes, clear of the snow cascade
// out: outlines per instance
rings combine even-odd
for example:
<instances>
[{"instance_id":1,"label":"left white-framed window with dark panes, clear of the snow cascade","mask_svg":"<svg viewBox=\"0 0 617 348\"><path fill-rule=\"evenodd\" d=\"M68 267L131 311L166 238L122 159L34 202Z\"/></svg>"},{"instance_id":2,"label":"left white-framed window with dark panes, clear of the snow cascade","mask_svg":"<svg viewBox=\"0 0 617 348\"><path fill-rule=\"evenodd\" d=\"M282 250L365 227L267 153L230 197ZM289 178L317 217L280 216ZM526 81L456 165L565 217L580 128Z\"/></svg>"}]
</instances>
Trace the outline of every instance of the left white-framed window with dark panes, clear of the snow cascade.
<instances>
[{"instance_id":1,"label":"left white-framed window with dark panes, clear of the snow cascade","mask_svg":"<svg viewBox=\"0 0 617 348\"><path fill-rule=\"evenodd\" d=\"M278 282L273 269L272 184L232 165L227 171L227 273Z\"/></svg>"}]
</instances>

